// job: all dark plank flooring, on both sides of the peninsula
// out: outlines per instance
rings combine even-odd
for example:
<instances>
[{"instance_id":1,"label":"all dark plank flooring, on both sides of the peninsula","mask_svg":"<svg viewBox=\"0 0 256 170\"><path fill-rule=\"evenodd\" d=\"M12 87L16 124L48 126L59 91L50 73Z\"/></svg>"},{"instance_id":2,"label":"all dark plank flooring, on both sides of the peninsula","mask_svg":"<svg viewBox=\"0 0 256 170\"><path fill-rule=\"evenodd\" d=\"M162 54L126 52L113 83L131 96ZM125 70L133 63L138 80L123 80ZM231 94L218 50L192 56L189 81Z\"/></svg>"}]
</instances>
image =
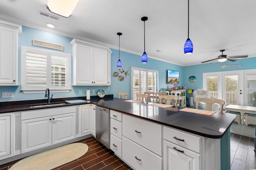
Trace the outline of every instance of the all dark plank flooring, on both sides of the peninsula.
<instances>
[{"instance_id":1,"label":"all dark plank flooring, on both sides of the peninsula","mask_svg":"<svg viewBox=\"0 0 256 170\"><path fill-rule=\"evenodd\" d=\"M132 170L93 137L78 142L86 143L89 147L88 152L54 170ZM231 170L256 170L254 138L231 133L230 158ZM0 170L8 170L16 162L18 160L0 165Z\"/></svg>"}]
</instances>

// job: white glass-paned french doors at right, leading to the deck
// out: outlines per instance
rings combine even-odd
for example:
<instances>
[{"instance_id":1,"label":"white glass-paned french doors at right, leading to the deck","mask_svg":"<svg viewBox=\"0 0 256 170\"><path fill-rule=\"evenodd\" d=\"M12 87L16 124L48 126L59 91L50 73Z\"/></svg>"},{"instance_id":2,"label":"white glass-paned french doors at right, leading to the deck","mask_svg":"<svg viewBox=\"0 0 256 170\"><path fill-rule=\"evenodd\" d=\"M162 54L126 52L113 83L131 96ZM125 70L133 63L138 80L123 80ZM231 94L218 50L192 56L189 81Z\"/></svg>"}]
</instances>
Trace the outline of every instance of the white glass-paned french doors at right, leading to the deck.
<instances>
[{"instance_id":1,"label":"white glass-paned french doors at right, leading to the deck","mask_svg":"<svg viewBox=\"0 0 256 170\"><path fill-rule=\"evenodd\" d=\"M225 106L256 106L256 69L203 73L203 88Z\"/></svg>"}]
</instances>

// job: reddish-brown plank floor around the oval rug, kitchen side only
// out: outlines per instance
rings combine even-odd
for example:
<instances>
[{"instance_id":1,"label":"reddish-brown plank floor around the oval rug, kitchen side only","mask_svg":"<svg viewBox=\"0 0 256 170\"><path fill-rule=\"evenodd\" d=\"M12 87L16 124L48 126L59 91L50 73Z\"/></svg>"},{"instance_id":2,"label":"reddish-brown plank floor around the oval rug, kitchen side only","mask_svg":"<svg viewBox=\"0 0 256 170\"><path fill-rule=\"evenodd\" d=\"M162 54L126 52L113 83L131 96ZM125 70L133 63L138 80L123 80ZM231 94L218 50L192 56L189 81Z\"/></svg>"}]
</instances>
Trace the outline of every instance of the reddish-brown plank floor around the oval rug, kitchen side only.
<instances>
[{"instance_id":1,"label":"reddish-brown plank floor around the oval rug, kitchen side only","mask_svg":"<svg viewBox=\"0 0 256 170\"><path fill-rule=\"evenodd\" d=\"M54 168L54 170L132 170L112 150L107 149L94 137L78 142L88 145L89 149L86 154L72 162ZM8 170L18 161L0 165L0 170Z\"/></svg>"}]
</instances>

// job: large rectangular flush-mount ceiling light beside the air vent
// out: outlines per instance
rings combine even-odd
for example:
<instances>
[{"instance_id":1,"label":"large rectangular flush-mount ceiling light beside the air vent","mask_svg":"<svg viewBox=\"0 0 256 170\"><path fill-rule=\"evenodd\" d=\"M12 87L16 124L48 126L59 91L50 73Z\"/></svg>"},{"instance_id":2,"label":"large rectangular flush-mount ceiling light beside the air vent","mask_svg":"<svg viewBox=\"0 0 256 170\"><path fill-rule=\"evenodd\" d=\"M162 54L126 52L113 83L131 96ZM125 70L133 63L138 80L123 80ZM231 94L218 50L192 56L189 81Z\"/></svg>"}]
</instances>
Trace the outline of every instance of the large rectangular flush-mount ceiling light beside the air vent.
<instances>
[{"instance_id":1,"label":"large rectangular flush-mount ceiling light beside the air vent","mask_svg":"<svg viewBox=\"0 0 256 170\"><path fill-rule=\"evenodd\" d=\"M59 16L70 17L78 0L48 0L47 9Z\"/></svg>"}]
</instances>

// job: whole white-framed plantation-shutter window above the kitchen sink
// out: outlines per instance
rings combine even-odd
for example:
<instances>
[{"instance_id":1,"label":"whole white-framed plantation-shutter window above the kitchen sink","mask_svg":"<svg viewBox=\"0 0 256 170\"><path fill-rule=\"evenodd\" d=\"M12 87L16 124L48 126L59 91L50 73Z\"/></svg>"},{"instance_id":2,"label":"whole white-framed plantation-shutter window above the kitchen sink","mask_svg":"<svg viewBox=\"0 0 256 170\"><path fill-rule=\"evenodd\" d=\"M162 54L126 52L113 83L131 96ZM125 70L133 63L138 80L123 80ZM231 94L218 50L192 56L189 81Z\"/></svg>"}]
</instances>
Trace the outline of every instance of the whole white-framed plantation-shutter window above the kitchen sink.
<instances>
[{"instance_id":1,"label":"whole white-framed plantation-shutter window above the kitchen sink","mask_svg":"<svg viewBox=\"0 0 256 170\"><path fill-rule=\"evenodd\" d=\"M22 47L21 90L23 93L69 92L71 56L41 49Z\"/></svg>"}]
</instances>

